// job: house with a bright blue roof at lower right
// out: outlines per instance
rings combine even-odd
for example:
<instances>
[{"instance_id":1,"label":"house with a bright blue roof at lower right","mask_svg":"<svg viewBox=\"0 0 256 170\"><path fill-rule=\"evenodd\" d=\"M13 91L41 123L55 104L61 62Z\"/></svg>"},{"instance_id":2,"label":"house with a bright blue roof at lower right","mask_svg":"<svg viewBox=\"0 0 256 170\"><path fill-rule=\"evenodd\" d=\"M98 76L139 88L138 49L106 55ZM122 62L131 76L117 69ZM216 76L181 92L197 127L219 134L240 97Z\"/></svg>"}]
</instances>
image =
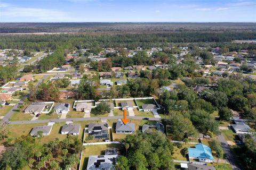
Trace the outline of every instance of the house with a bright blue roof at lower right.
<instances>
[{"instance_id":1,"label":"house with a bright blue roof at lower right","mask_svg":"<svg viewBox=\"0 0 256 170\"><path fill-rule=\"evenodd\" d=\"M196 148L188 148L189 159L199 159L199 162L212 163L212 150L209 146L197 144Z\"/></svg>"}]
</instances>

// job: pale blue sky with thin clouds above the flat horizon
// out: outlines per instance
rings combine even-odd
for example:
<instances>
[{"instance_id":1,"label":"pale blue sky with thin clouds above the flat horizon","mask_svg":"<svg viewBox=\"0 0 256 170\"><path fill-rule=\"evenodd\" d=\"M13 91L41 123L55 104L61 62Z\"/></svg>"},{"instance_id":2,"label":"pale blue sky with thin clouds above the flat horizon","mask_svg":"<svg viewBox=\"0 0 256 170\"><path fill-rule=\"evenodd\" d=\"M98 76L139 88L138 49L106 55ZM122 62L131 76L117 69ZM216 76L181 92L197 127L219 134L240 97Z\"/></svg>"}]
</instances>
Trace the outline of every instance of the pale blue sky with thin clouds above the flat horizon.
<instances>
[{"instance_id":1,"label":"pale blue sky with thin clouds above the flat horizon","mask_svg":"<svg viewBox=\"0 0 256 170\"><path fill-rule=\"evenodd\" d=\"M256 22L256 0L0 0L0 22Z\"/></svg>"}]
</instances>

